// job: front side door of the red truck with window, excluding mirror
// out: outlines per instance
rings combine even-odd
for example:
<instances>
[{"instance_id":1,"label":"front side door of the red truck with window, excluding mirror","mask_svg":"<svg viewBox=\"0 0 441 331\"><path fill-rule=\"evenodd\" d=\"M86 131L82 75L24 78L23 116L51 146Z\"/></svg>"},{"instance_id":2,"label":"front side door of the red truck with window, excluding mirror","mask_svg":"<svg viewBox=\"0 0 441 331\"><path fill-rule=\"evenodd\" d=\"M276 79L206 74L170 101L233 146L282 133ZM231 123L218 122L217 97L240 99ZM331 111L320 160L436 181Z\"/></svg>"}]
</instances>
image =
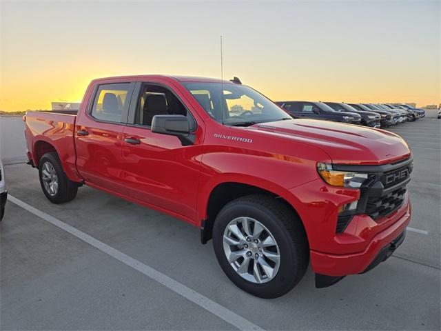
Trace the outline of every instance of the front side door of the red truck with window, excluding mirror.
<instances>
[{"instance_id":1,"label":"front side door of the red truck with window, excluding mirror","mask_svg":"<svg viewBox=\"0 0 441 331\"><path fill-rule=\"evenodd\" d=\"M172 90L154 83L137 85L121 142L123 179L125 194L130 197L194 221L202 123L192 117L196 139L189 146L183 146L178 137L150 130L155 115L185 112L192 117Z\"/></svg>"}]
</instances>

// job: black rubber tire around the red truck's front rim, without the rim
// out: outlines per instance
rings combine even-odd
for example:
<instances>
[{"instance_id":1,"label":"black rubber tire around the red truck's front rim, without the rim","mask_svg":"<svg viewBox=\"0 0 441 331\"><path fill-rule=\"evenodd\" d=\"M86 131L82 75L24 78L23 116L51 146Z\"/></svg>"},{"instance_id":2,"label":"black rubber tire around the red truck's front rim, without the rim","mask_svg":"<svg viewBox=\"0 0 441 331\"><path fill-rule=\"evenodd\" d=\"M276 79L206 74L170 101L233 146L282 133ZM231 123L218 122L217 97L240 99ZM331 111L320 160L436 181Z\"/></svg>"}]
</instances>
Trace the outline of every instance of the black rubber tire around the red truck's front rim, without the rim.
<instances>
[{"instance_id":1,"label":"black rubber tire around the red truck's front rim, without the rim","mask_svg":"<svg viewBox=\"0 0 441 331\"><path fill-rule=\"evenodd\" d=\"M223 249L228 223L237 217L252 217L271 232L280 251L277 274L267 283L253 283L241 277L229 264ZM300 219L287 205L265 195L249 195L229 202L220 210L213 226L216 258L227 277L245 292L265 299L280 297L302 279L309 263L307 235Z\"/></svg>"}]
</instances>

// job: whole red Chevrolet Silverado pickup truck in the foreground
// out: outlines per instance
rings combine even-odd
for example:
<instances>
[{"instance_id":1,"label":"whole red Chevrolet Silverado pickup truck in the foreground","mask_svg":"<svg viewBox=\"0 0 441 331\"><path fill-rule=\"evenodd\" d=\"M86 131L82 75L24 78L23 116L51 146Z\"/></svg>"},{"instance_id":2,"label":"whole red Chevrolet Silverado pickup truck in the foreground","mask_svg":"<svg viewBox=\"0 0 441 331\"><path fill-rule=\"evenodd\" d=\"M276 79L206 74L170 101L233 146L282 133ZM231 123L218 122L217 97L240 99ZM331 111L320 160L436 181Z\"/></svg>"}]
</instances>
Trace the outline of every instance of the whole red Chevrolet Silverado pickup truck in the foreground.
<instances>
[{"instance_id":1,"label":"whole red Chevrolet Silverado pickup truck in the foreground","mask_svg":"<svg viewBox=\"0 0 441 331\"><path fill-rule=\"evenodd\" d=\"M96 79L78 114L24 120L50 201L89 185L187 221L258 297L291 290L309 261L317 287L366 272L410 221L412 154L398 135L291 119L238 79Z\"/></svg>"}]
</instances>

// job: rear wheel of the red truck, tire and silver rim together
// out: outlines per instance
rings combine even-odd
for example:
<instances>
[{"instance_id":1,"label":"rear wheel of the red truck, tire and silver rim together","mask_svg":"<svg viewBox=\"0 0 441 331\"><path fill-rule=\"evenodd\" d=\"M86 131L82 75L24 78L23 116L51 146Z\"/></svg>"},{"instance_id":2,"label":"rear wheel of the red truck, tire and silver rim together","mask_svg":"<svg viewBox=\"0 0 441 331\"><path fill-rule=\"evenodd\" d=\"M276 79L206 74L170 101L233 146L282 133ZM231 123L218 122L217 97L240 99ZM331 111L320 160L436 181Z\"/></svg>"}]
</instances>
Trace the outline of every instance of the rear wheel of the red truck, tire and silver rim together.
<instances>
[{"instance_id":1,"label":"rear wheel of the red truck, tire and silver rim together","mask_svg":"<svg viewBox=\"0 0 441 331\"><path fill-rule=\"evenodd\" d=\"M66 177L56 152L49 152L39 162L43 193L52 203L68 202L76 197L78 184Z\"/></svg>"}]
</instances>

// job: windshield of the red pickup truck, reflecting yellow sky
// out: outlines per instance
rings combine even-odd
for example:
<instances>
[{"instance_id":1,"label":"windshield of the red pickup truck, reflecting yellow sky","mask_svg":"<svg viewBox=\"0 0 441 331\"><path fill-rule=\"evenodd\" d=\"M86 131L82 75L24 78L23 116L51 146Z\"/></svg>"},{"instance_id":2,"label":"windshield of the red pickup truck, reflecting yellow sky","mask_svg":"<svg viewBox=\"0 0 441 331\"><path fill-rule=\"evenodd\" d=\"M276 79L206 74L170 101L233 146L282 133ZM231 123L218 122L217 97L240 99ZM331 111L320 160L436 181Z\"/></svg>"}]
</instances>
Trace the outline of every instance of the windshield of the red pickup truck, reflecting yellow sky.
<instances>
[{"instance_id":1,"label":"windshield of the red pickup truck, reflecting yellow sky","mask_svg":"<svg viewBox=\"0 0 441 331\"><path fill-rule=\"evenodd\" d=\"M271 100L248 86L231 83L183 83L213 119L232 126L291 119Z\"/></svg>"}]
</instances>

